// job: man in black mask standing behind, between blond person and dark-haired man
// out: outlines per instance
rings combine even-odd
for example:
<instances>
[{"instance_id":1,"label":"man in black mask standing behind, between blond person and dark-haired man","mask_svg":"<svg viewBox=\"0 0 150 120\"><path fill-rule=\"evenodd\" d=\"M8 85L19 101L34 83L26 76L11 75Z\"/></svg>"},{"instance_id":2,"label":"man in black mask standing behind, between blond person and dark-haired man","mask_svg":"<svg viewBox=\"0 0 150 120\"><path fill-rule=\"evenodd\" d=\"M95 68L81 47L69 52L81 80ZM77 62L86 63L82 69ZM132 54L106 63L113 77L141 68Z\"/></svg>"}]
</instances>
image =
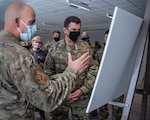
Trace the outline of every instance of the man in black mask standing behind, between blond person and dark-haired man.
<instances>
[{"instance_id":1,"label":"man in black mask standing behind, between blond person and dark-haired man","mask_svg":"<svg viewBox=\"0 0 150 120\"><path fill-rule=\"evenodd\" d=\"M53 31L53 35L52 35L52 41L47 41L47 43L44 45L44 50L48 51L49 48L55 44L56 42L58 42L60 40L60 35L61 32L58 30Z\"/></svg>"}]
</instances>

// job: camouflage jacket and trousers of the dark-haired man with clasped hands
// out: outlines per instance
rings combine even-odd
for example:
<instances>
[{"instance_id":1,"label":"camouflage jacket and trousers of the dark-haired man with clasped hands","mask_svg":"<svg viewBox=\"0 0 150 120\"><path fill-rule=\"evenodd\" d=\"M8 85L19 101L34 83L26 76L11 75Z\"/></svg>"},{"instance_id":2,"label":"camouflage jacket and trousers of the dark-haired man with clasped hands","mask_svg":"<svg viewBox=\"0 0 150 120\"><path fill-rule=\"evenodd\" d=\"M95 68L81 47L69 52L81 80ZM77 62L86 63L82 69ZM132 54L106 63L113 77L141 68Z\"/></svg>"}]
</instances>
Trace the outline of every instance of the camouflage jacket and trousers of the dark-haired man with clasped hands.
<instances>
[{"instance_id":1,"label":"camouflage jacket and trousers of the dark-haired man with clasped hands","mask_svg":"<svg viewBox=\"0 0 150 120\"><path fill-rule=\"evenodd\" d=\"M68 52L72 54L74 60L86 52L89 52L92 55L90 46L85 41L77 40L73 46L68 46L65 44L64 40L60 40L50 48L47 54L44 67L45 72L48 74L63 72L68 64ZM52 118L53 120L62 120L62 117L63 120L68 119L68 111L70 109L73 120L87 120L85 110L95 82L97 71L98 62L91 57L89 68L79 76L75 88L71 91L75 92L80 89L83 92L83 95L77 101L72 103L69 103L67 100L64 101L63 105L51 113L51 115L55 117ZM62 116L60 113L62 113Z\"/></svg>"}]
</instances>

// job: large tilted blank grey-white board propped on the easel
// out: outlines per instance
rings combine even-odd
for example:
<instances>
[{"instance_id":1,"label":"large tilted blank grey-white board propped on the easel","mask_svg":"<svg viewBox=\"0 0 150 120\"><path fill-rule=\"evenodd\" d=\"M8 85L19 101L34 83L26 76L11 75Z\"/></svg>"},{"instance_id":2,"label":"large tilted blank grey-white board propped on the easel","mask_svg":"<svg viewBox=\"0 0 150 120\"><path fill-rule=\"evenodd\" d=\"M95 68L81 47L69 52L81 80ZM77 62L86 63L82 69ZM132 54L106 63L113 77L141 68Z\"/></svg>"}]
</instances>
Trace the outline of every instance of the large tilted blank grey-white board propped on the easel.
<instances>
[{"instance_id":1,"label":"large tilted blank grey-white board propped on the easel","mask_svg":"<svg viewBox=\"0 0 150 120\"><path fill-rule=\"evenodd\" d=\"M141 18L115 7L86 113L111 102L128 91L141 25Z\"/></svg>"}]
</instances>

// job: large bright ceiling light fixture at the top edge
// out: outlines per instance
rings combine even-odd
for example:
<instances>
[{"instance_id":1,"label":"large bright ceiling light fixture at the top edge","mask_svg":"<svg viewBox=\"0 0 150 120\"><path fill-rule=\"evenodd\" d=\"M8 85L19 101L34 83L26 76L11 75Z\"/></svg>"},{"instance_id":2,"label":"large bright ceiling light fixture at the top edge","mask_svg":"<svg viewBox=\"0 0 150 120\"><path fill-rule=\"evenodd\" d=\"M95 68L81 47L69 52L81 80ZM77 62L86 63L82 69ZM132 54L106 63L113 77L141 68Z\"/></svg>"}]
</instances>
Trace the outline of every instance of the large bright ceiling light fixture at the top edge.
<instances>
[{"instance_id":1,"label":"large bright ceiling light fixture at the top edge","mask_svg":"<svg viewBox=\"0 0 150 120\"><path fill-rule=\"evenodd\" d=\"M79 8L79 9L84 9L84 10L87 10L87 11L91 10L91 7L88 4L83 3L83 2L79 2L77 0L66 0L66 2L70 6L73 6L73 7Z\"/></svg>"}]
</instances>

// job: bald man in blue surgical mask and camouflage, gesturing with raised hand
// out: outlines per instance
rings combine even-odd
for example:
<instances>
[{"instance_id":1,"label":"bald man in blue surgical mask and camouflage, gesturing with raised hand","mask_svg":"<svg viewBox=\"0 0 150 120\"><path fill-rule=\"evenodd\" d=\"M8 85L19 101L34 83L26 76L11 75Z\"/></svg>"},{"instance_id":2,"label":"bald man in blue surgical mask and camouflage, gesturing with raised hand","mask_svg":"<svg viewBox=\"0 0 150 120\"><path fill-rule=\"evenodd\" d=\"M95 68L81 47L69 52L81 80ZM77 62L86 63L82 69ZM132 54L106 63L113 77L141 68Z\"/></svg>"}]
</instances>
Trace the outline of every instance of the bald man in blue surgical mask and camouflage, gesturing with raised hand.
<instances>
[{"instance_id":1,"label":"bald man in blue surgical mask and camouflage, gesturing with raised hand","mask_svg":"<svg viewBox=\"0 0 150 120\"><path fill-rule=\"evenodd\" d=\"M47 112L56 109L74 88L90 57L84 54L72 61L69 53L66 70L49 78L20 45L20 40L30 40L36 31L34 10L14 2L6 9L4 20L0 32L0 120L34 120L27 114L29 103Z\"/></svg>"}]
</instances>

